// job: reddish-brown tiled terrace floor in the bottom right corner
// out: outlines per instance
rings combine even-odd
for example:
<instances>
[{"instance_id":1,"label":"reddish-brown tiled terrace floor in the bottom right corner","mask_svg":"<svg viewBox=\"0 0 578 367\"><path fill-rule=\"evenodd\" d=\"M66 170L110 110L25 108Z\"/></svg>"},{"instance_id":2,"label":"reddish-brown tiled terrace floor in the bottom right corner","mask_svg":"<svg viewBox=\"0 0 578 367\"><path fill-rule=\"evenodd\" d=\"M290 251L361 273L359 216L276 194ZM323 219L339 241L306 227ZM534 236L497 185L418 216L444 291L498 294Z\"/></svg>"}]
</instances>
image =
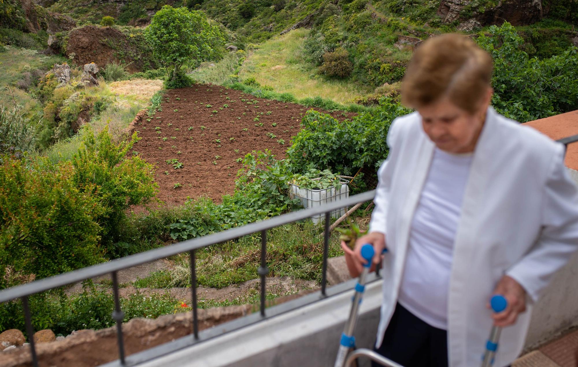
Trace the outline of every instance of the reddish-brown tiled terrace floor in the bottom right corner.
<instances>
[{"instance_id":1,"label":"reddish-brown tiled terrace floor in the bottom right corner","mask_svg":"<svg viewBox=\"0 0 578 367\"><path fill-rule=\"evenodd\" d=\"M578 367L578 329L518 358L513 367Z\"/></svg>"}]
</instances>

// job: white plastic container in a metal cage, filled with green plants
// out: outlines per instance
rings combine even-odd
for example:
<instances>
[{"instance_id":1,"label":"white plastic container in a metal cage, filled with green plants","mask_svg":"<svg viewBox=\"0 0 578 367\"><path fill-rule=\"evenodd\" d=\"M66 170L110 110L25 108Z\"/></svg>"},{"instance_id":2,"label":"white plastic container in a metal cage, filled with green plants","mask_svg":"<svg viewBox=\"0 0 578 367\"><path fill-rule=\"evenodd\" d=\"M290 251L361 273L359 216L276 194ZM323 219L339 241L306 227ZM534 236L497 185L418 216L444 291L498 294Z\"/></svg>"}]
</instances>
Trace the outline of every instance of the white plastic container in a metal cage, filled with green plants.
<instances>
[{"instance_id":1,"label":"white plastic container in a metal cage, filled with green plants","mask_svg":"<svg viewBox=\"0 0 578 367\"><path fill-rule=\"evenodd\" d=\"M302 189L299 188L298 185L289 184L291 186L291 197L298 197L303 204L303 207L308 208L316 208L320 207L321 205L335 203L336 201L345 200L349 197L349 181L346 179L340 178L339 182L341 182L341 188L338 190L334 186L331 186L327 189ZM339 218L343 214L345 214L346 208L339 208L331 212L331 216L333 218ZM313 223L318 223L325 219L325 213L313 215L311 217Z\"/></svg>"}]
</instances>

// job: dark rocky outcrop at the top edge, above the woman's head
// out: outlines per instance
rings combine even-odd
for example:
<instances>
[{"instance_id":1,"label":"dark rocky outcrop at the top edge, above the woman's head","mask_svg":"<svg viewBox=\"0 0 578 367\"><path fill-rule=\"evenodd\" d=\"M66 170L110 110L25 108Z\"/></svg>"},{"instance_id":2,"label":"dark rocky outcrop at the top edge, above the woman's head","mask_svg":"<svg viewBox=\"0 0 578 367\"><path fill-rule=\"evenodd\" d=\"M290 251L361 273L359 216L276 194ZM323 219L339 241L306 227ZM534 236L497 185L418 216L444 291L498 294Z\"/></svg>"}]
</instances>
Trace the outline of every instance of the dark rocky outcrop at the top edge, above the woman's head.
<instances>
[{"instance_id":1,"label":"dark rocky outcrop at the top edge, above the woman's head","mask_svg":"<svg viewBox=\"0 0 578 367\"><path fill-rule=\"evenodd\" d=\"M513 25L525 25L542 19L541 0L501 0L492 8L475 6L474 1L476 0L442 0L438 15L444 23L461 21L458 29L464 31L483 25L502 24L504 21ZM465 10L468 10L468 14L464 14Z\"/></svg>"}]
</instances>

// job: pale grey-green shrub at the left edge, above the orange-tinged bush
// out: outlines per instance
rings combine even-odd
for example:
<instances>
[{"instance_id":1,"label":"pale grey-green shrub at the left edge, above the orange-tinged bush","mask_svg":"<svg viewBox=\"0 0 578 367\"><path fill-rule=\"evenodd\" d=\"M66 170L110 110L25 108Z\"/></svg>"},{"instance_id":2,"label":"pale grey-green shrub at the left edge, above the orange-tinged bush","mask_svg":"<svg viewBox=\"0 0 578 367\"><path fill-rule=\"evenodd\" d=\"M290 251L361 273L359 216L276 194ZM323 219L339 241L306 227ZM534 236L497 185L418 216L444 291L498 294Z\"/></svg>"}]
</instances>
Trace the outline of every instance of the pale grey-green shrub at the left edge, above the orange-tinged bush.
<instances>
[{"instance_id":1,"label":"pale grey-green shrub at the left edge, above the orange-tinged bush","mask_svg":"<svg viewBox=\"0 0 578 367\"><path fill-rule=\"evenodd\" d=\"M24 118L21 107L0 106L0 153L32 151L36 140L35 126Z\"/></svg>"}]
</instances>

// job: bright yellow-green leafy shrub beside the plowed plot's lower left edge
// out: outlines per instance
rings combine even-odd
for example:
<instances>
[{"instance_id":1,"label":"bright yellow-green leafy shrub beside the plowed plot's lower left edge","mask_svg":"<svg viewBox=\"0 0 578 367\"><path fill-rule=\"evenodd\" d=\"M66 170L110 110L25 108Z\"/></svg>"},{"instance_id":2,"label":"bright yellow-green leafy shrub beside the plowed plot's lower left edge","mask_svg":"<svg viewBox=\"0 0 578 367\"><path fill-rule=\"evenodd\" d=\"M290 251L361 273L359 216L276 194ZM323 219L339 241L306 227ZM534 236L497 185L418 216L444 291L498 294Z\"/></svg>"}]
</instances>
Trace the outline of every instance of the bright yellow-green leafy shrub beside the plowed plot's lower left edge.
<instances>
[{"instance_id":1,"label":"bright yellow-green leafy shrub beside the plowed plot's lower left edge","mask_svg":"<svg viewBox=\"0 0 578 367\"><path fill-rule=\"evenodd\" d=\"M98 197L105 212L97 216L103 225L102 242L109 256L116 256L112 246L122 231L120 224L131 205L147 204L157 193L153 166L139 156L129 155L139 139L114 144L108 126L94 136L92 129L85 131L83 146L72 158L75 168L73 181L81 192Z\"/></svg>"}]
</instances>

